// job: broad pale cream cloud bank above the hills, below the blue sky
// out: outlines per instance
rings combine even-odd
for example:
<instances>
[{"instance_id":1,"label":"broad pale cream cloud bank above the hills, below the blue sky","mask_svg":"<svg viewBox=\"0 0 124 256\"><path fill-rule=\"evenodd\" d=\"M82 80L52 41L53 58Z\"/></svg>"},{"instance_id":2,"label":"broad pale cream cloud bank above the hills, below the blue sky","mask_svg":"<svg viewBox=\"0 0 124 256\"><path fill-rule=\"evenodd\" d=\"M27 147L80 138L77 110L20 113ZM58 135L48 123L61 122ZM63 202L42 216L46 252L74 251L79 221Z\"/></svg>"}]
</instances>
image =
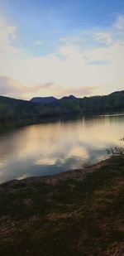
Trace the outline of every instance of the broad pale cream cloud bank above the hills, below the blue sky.
<instances>
[{"instance_id":1,"label":"broad pale cream cloud bank above the hills, below the blue sky","mask_svg":"<svg viewBox=\"0 0 124 256\"><path fill-rule=\"evenodd\" d=\"M1 21L1 94L30 99L37 95L107 94L123 89L124 36L119 34L123 20L118 17L104 31L93 28L81 32L80 37L72 36L71 41L60 40L55 52L39 57L15 52L17 28ZM14 50L11 56L3 52L7 46L12 47L10 52Z\"/></svg>"}]
</instances>

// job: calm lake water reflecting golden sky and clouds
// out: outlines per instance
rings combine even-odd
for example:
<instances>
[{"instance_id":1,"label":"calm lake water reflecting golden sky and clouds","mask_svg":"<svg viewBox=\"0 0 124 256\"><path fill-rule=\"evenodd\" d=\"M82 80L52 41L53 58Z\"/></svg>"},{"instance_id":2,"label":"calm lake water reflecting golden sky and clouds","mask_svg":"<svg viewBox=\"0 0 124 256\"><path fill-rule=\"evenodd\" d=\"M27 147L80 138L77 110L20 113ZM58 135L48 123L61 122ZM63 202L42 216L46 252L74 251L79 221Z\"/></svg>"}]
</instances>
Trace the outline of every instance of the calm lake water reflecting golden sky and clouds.
<instances>
[{"instance_id":1,"label":"calm lake water reflecting golden sky and clouds","mask_svg":"<svg viewBox=\"0 0 124 256\"><path fill-rule=\"evenodd\" d=\"M0 134L0 182L43 176L107 157L122 145L124 114L35 124Z\"/></svg>"}]
</instances>

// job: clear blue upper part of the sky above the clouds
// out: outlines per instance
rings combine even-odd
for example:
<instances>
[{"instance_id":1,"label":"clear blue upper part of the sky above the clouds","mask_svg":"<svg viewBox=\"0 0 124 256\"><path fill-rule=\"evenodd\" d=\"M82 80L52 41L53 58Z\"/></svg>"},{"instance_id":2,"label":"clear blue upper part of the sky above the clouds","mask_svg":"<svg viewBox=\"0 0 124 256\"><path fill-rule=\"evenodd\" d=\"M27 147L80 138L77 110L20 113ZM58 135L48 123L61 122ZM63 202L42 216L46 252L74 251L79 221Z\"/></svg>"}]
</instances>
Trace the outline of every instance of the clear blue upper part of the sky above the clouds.
<instances>
[{"instance_id":1,"label":"clear blue upper part of the sky above the clouds","mask_svg":"<svg viewBox=\"0 0 124 256\"><path fill-rule=\"evenodd\" d=\"M122 10L124 13L124 1L120 0L1 0L0 5L18 27L21 45L40 55L55 51L60 37L93 27L109 27ZM45 41L45 45L35 49L32 41Z\"/></svg>"}]
</instances>

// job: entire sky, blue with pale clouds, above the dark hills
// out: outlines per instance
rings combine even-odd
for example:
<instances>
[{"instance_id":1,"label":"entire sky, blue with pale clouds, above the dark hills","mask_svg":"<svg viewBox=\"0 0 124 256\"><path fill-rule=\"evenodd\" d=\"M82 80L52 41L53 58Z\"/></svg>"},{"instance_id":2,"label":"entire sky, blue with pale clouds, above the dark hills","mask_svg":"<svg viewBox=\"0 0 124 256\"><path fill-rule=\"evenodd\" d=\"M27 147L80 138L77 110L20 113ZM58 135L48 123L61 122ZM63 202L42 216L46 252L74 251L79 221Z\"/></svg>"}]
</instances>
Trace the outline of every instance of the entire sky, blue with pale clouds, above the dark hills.
<instances>
[{"instance_id":1,"label":"entire sky, blue with pale clouds, above the dark hills","mask_svg":"<svg viewBox=\"0 0 124 256\"><path fill-rule=\"evenodd\" d=\"M0 0L0 95L124 89L123 0Z\"/></svg>"}]
</instances>

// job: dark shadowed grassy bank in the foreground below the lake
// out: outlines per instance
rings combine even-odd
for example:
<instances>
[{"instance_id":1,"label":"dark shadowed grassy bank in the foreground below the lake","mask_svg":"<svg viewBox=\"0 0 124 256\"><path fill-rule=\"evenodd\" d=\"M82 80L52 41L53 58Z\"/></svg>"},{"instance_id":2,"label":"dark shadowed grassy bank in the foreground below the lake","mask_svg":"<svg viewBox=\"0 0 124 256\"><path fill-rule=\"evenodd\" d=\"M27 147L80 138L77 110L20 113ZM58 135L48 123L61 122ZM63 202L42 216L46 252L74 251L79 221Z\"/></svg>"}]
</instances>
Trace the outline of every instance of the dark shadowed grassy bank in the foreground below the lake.
<instances>
[{"instance_id":1,"label":"dark shadowed grassy bank in the foreground below the lake","mask_svg":"<svg viewBox=\"0 0 124 256\"><path fill-rule=\"evenodd\" d=\"M124 158L2 184L0 255L123 256Z\"/></svg>"}]
</instances>

